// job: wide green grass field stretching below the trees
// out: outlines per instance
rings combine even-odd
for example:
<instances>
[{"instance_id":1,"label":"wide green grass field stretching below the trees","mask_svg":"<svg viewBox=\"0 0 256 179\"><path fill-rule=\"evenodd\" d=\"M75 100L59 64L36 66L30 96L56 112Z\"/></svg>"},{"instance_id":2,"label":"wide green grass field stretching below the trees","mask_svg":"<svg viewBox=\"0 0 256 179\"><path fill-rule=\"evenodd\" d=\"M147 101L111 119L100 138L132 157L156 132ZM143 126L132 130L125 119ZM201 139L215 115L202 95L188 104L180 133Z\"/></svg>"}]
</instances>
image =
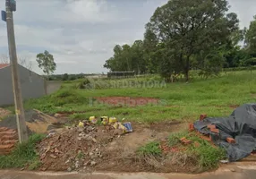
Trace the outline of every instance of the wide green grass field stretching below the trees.
<instances>
[{"instance_id":1,"label":"wide green grass field stretching below the trees","mask_svg":"<svg viewBox=\"0 0 256 179\"><path fill-rule=\"evenodd\" d=\"M202 113L209 116L229 115L235 107L255 102L255 74L256 71L227 72L208 80L194 78L189 83L180 81L166 84L157 76L119 81L101 80L97 82L96 89L90 90L76 89L81 80L67 81L53 95L26 101L25 108L37 108L48 114L77 112L71 115L73 119L108 115L141 122L194 121ZM136 81L142 85L127 85ZM158 85L155 85L156 88L147 86L147 81L158 81ZM115 85L110 88L106 83ZM143 87L143 84L146 85ZM93 99L95 97L149 97L160 99L160 103L143 107L113 107L98 104Z\"/></svg>"}]
</instances>

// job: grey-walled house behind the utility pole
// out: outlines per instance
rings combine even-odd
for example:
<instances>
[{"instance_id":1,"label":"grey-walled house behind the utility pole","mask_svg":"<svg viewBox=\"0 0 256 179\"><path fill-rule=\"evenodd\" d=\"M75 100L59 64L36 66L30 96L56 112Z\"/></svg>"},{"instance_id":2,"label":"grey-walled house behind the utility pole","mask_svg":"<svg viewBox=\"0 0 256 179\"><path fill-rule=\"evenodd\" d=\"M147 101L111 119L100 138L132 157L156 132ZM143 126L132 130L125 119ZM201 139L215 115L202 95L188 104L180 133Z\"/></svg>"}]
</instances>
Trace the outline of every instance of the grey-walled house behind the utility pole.
<instances>
[{"instance_id":1,"label":"grey-walled house behind the utility pole","mask_svg":"<svg viewBox=\"0 0 256 179\"><path fill-rule=\"evenodd\" d=\"M45 79L35 72L18 65L22 98L39 98L47 94ZM13 105L13 81L10 64L0 64L0 107Z\"/></svg>"}]
</instances>

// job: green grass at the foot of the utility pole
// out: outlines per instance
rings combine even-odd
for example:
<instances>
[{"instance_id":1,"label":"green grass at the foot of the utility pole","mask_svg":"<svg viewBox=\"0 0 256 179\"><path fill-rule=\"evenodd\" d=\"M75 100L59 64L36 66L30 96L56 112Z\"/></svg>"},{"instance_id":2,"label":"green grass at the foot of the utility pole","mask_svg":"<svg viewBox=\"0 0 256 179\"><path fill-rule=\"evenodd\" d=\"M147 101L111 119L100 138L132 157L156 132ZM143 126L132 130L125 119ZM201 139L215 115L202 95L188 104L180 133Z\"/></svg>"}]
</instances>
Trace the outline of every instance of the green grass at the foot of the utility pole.
<instances>
[{"instance_id":1,"label":"green grass at the foot of the utility pole","mask_svg":"<svg viewBox=\"0 0 256 179\"><path fill-rule=\"evenodd\" d=\"M10 155L0 156L0 168L21 168L25 166L28 166L30 170L38 168L40 162L35 148L43 138L44 135L42 134L34 134L30 136L29 141L17 145Z\"/></svg>"}]
</instances>

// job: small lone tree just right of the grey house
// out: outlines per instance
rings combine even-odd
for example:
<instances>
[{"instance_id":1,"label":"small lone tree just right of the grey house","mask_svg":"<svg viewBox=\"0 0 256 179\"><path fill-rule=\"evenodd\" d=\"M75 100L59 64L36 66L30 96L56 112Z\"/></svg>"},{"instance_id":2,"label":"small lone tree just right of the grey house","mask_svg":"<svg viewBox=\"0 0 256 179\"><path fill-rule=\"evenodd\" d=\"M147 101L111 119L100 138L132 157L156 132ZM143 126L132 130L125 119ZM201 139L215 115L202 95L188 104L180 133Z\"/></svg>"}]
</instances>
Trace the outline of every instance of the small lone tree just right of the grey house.
<instances>
[{"instance_id":1,"label":"small lone tree just right of the grey house","mask_svg":"<svg viewBox=\"0 0 256 179\"><path fill-rule=\"evenodd\" d=\"M47 74L47 80L49 74L52 74L56 70L56 64L54 56L51 55L47 50L44 53L37 55L38 67Z\"/></svg>"}]
</instances>

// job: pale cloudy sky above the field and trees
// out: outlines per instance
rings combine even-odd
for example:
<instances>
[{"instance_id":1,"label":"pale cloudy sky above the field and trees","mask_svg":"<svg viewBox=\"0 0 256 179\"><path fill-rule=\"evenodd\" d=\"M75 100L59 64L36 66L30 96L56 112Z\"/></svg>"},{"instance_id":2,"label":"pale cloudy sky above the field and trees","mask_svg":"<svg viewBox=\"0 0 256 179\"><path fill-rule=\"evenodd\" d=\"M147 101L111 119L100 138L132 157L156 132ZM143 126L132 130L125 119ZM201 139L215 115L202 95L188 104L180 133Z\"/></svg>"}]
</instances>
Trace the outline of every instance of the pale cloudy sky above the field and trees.
<instances>
[{"instance_id":1,"label":"pale cloudy sky above the field and trees","mask_svg":"<svg viewBox=\"0 0 256 179\"><path fill-rule=\"evenodd\" d=\"M55 73L101 73L115 45L142 39L145 24L167 0L16 0L13 13L17 53L42 73L36 55L49 51ZM256 15L255 0L228 0L240 26ZM4 10L4 0L0 9ZM8 54L6 23L0 21L0 55Z\"/></svg>"}]
</instances>

